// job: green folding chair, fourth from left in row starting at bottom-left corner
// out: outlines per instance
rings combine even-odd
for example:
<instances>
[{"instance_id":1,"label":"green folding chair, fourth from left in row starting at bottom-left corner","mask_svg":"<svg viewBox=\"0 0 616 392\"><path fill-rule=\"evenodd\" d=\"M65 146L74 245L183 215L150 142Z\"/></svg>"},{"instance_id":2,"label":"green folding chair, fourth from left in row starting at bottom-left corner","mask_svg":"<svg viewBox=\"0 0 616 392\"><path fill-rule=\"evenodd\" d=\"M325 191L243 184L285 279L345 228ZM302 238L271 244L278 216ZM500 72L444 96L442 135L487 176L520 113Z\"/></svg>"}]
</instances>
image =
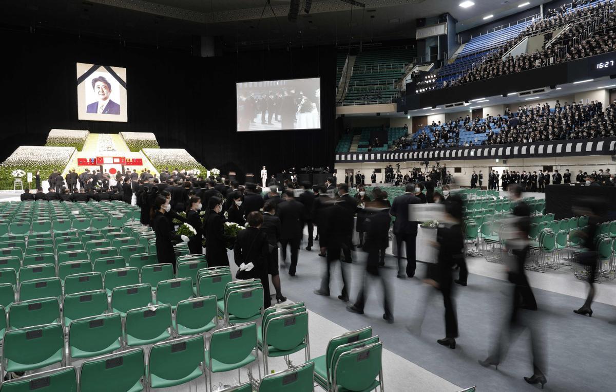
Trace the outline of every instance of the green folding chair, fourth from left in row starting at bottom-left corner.
<instances>
[{"instance_id":1,"label":"green folding chair, fourth from left in row starting at bottom-left corner","mask_svg":"<svg viewBox=\"0 0 616 392\"><path fill-rule=\"evenodd\" d=\"M253 354L254 351L254 354ZM214 373L230 372L257 362L257 325L254 322L235 325L212 332L209 348L205 350L205 367L208 369L209 390L212 390ZM239 374L238 374L239 375ZM261 377L261 369L257 378ZM238 380L241 383L241 380Z\"/></svg>"}]
</instances>

